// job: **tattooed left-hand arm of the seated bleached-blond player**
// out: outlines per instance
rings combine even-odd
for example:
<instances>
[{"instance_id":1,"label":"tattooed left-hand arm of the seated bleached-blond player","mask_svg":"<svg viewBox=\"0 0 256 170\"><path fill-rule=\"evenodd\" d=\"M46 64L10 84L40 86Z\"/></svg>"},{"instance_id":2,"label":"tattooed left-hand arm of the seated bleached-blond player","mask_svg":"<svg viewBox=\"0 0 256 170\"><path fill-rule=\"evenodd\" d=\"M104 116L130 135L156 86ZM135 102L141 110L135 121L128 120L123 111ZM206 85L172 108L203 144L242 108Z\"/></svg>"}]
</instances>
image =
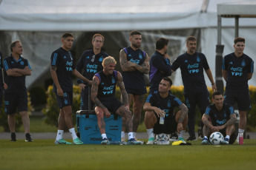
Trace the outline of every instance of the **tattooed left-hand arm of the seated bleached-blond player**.
<instances>
[{"instance_id":1,"label":"tattooed left-hand arm of the seated bleached-blond player","mask_svg":"<svg viewBox=\"0 0 256 170\"><path fill-rule=\"evenodd\" d=\"M98 86L99 86L99 78L96 76L93 77L93 84L91 86L91 101L96 104L96 106L99 106L103 111L106 117L108 118L111 113L108 111L108 109L99 101L99 98L97 98L98 95Z\"/></svg>"}]
</instances>

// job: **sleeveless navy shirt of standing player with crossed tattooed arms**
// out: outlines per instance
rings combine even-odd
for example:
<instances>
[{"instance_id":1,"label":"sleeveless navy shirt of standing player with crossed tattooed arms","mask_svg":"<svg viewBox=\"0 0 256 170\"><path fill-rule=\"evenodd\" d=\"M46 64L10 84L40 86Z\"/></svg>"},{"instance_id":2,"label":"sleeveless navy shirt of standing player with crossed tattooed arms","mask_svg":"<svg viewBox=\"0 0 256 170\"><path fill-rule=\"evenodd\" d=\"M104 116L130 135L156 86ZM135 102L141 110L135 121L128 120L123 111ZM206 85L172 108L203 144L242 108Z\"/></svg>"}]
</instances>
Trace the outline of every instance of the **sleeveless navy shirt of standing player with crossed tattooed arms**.
<instances>
[{"instance_id":1,"label":"sleeveless navy shirt of standing player with crossed tattooed arms","mask_svg":"<svg viewBox=\"0 0 256 170\"><path fill-rule=\"evenodd\" d=\"M138 65L141 65L145 61L145 52L138 49L133 50L131 47L123 49L127 55L127 61L131 61ZM143 95L147 93L144 74L138 70L134 72L122 72L123 82L125 89L129 93L130 91L136 91L137 95Z\"/></svg>"}]
</instances>

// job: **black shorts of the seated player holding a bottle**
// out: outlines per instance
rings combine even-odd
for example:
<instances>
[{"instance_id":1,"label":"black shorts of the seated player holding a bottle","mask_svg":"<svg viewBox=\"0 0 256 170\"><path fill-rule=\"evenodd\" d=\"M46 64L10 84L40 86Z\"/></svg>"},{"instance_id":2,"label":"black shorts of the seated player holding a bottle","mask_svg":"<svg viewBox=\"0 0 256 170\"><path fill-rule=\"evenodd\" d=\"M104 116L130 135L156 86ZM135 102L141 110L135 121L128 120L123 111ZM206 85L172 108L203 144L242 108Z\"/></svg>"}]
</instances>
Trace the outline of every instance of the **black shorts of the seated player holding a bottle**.
<instances>
[{"instance_id":1,"label":"black shorts of the seated player holding a bottle","mask_svg":"<svg viewBox=\"0 0 256 170\"><path fill-rule=\"evenodd\" d=\"M170 118L165 117L165 123L160 124L160 118L158 118L157 114L155 113L157 117L157 123L154 124L154 134L171 134L175 131L177 131L177 122L175 120L175 116L172 115Z\"/></svg>"}]
</instances>

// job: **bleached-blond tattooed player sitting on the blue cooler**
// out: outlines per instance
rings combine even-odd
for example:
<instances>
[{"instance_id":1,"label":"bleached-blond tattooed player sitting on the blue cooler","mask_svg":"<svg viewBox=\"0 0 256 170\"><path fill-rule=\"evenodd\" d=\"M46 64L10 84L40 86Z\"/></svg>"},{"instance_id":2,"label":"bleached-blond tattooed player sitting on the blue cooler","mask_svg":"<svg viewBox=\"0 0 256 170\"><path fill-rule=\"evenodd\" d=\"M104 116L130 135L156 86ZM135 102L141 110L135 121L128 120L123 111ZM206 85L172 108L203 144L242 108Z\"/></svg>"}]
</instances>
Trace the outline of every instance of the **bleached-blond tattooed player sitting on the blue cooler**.
<instances>
[{"instance_id":1,"label":"bleached-blond tattooed player sitting on the blue cooler","mask_svg":"<svg viewBox=\"0 0 256 170\"><path fill-rule=\"evenodd\" d=\"M140 144L134 139L132 132L131 111L128 106L128 95L122 82L120 72L114 70L116 60L108 56L102 61L103 70L96 73L93 77L93 85L91 87L91 99L96 104L95 112L98 119L99 131L102 134L102 144L110 144L105 133L104 116L109 118L111 112L125 117L125 126L128 130L128 144ZM119 86L123 103L117 101L115 97L116 85Z\"/></svg>"}]
</instances>

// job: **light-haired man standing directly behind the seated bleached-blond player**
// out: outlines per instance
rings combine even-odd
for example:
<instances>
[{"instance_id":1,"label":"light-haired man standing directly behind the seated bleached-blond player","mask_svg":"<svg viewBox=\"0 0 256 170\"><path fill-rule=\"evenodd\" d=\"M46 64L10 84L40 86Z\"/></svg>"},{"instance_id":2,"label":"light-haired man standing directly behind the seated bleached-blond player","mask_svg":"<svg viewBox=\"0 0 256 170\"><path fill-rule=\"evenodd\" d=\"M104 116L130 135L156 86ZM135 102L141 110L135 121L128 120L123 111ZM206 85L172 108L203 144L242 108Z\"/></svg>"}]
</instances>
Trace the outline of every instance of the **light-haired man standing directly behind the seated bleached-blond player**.
<instances>
[{"instance_id":1,"label":"light-haired man standing directly behind the seated bleached-blond player","mask_svg":"<svg viewBox=\"0 0 256 170\"><path fill-rule=\"evenodd\" d=\"M85 52L83 52L81 58L76 65L76 70L81 73L83 69L83 76L85 78L88 78L88 80L90 81L93 80L93 75L103 69L102 61L104 58L108 57L108 54L102 51L104 40L104 37L100 34L93 35L93 39L91 42L93 44L93 50L86 50ZM88 110L88 89L90 87L86 82L83 82L81 79L78 79L77 83L81 88L81 109ZM93 109L92 101L91 109Z\"/></svg>"}]
</instances>

